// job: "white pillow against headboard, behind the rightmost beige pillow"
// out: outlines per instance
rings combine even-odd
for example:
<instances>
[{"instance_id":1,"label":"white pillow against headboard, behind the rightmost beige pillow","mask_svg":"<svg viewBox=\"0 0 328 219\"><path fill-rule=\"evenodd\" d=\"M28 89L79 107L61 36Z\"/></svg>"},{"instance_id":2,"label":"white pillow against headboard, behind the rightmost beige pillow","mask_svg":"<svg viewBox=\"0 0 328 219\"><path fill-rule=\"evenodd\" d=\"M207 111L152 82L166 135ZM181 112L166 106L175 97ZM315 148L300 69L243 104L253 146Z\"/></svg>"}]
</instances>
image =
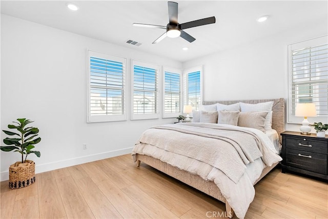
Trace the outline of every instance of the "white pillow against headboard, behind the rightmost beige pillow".
<instances>
[{"instance_id":1,"label":"white pillow against headboard, behind the rightmost beige pillow","mask_svg":"<svg viewBox=\"0 0 328 219\"><path fill-rule=\"evenodd\" d=\"M273 101L257 103L257 104L240 102L241 112L268 112L264 124L264 129L267 131L272 129L272 106L273 106Z\"/></svg>"}]
</instances>

